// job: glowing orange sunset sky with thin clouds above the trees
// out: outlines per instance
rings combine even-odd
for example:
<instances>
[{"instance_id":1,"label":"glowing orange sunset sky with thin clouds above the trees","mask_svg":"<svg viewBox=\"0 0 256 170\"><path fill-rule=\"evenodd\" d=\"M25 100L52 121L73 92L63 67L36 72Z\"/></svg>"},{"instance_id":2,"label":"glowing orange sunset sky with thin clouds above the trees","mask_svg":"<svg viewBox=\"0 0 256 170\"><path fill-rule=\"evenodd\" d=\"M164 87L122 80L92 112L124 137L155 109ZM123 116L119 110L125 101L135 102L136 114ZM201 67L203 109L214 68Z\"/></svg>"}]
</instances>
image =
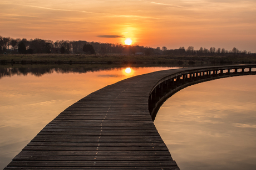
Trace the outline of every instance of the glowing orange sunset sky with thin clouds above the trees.
<instances>
[{"instance_id":1,"label":"glowing orange sunset sky with thin clouds above the trees","mask_svg":"<svg viewBox=\"0 0 256 170\"><path fill-rule=\"evenodd\" d=\"M0 35L256 52L256 1L0 0Z\"/></svg>"}]
</instances>

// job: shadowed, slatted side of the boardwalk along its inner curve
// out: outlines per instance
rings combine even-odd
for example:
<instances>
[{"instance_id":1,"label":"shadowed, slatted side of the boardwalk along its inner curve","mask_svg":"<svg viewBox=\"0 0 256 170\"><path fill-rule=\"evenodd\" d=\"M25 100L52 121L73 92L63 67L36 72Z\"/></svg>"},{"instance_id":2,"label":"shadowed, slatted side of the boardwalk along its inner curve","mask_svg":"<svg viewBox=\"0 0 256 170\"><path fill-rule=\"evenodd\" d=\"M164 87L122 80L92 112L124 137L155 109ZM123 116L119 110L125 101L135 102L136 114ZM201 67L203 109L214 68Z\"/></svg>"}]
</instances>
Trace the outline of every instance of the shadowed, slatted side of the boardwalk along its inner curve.
<instances>
[{"instance_id":1,"label":"shadowed, slatted side of the boardwalk along its inner curve","mask_svg":"<svg viewBox=\"0 0 256 170\"><path fill-rule=\"evenodd\" d=\"M204 81L227 78L230 76L256 74L256 65L211 66L191 68L166 76L152 87L149 94L149 111L152 120L155 119L160 106L177 91L187 86Z\"/></svg>"}]
</instances>

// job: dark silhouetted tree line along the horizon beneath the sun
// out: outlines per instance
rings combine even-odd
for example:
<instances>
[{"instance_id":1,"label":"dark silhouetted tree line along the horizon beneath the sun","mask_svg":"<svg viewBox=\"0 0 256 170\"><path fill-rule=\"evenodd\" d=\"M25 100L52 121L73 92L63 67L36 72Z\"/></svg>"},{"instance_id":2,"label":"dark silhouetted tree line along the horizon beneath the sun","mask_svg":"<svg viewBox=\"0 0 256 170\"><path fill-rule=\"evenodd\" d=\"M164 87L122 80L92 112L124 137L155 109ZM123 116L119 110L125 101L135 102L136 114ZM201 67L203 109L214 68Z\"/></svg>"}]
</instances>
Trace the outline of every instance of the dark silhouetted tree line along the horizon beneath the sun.
<instances>
[{"instance_id":1,"label":"dark silhouetted tree line along the horizon beneath the sun","mask_svg":"<svg viewBox=\"0 0 256 170\"><path fill-rule=\"evenodd\" d=\"M211 56L211 55L255 55L247 50L225 50L224 48L206 49L201 47L195 50L190 46L188 49L180 47L179 49L167 49L166 47L144 47L139 45L122 45L112 43L100 42L86 42L85 40L69 41L69 40L52 40L43 39L13 39L10 37L2 37L0 35L0 52L2 53L20 53L20 54L33 54L33 53L62 53L62 54L144 54L144 55L198 55L198 56Z\"/></svg>"}]
</instances>

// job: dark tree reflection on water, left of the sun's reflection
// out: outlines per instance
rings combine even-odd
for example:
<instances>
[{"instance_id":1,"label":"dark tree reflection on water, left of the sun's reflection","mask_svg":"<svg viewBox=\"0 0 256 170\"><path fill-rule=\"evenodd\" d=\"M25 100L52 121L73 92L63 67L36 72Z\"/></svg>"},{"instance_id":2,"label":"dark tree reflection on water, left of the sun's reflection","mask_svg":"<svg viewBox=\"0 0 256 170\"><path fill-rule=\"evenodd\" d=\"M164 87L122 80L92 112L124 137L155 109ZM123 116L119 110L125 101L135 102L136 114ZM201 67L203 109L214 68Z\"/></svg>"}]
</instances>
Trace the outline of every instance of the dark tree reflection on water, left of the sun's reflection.
<instances>
[{"instance_id":1,"label":"dark tree reflection on water, left of the sun's reflection","mask_svg":"<svg viewBox=\"0 0 256 170\"><path fill-rule=\"evenodd\" d=\"M69 66L62 65L60 67L47 66L47 65L22 65L22 66L9 66L2 68L0 67L0 78L4 76L13 76L13 75L27 75L32 74L35 76L42 76L43 74L51 74L53 72L56 73L86 73L88 71L101 71L101 70L111 70L114 68L121 68L121 66L108 66L108 65L83 65L83 66Z\"/></svg>"}]
</instances>

